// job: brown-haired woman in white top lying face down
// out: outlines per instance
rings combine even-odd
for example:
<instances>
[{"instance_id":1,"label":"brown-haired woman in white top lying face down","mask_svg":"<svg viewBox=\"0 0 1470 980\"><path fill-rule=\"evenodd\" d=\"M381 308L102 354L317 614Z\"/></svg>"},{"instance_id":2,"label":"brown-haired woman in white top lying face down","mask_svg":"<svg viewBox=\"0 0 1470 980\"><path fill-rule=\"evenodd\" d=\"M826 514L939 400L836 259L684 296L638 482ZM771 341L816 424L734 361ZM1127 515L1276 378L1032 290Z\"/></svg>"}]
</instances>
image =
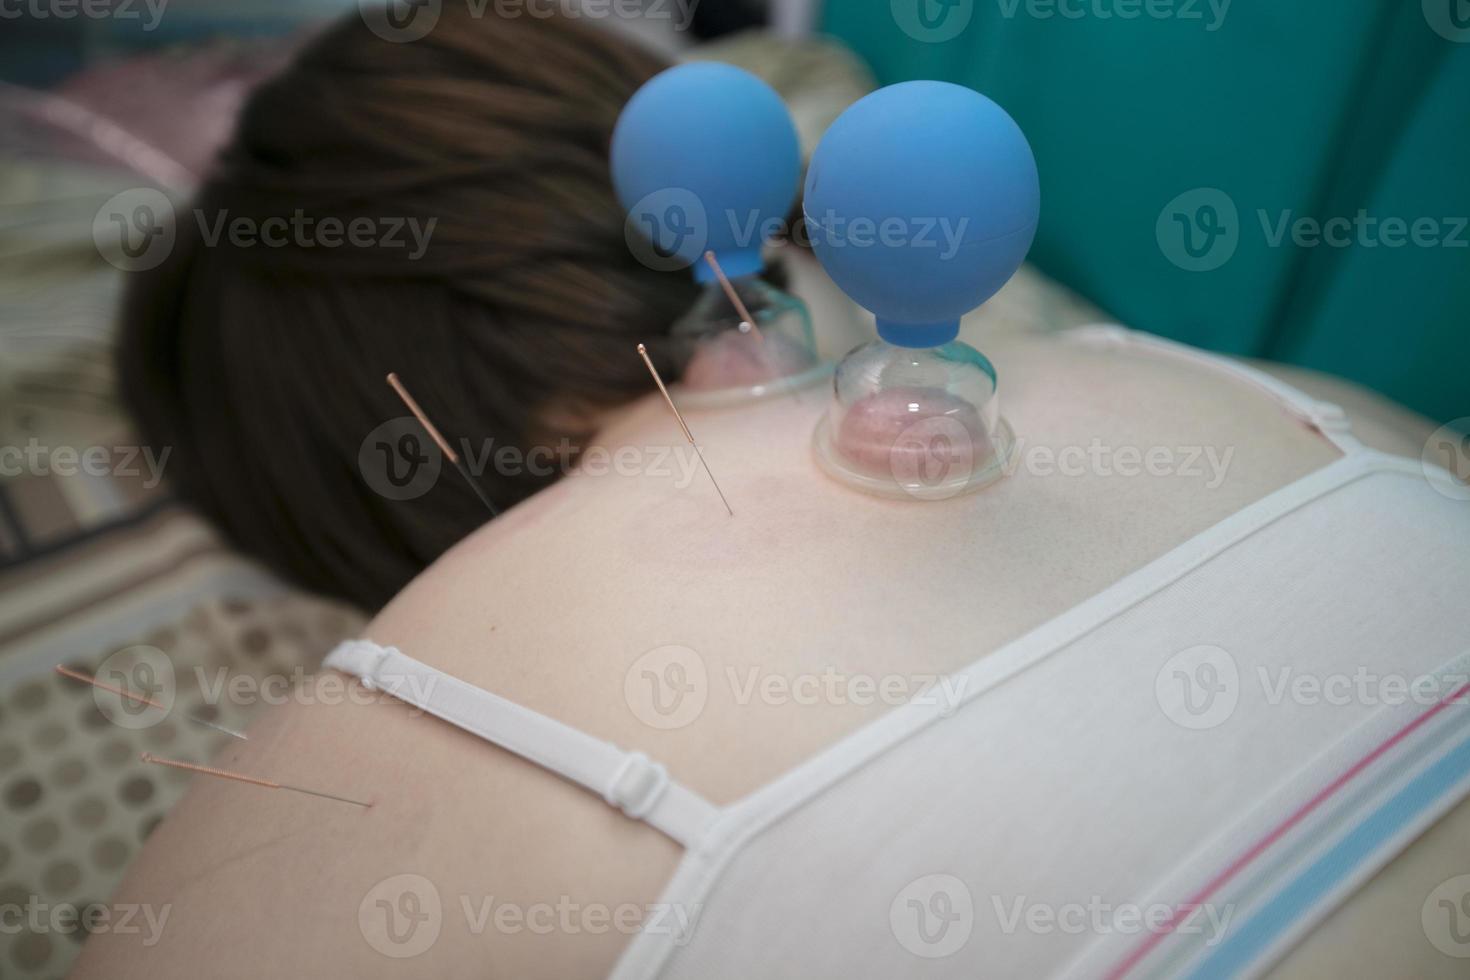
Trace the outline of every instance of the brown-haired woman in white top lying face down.
<instances>
[{"instance_id":1,"label":"brown-haired woman in white top lying face down","mask_svg":"<svg viewBox=\"0 0 1470 980\"><path fill-rule=\"evenodd\" d=\"M694 301L607 176L660 66L453 16L325 35L201 197L438 216L423 256L181 231L128 309L178 491L381 605L216 764L370 805L196 780L118 899L168 933L76 976L1463 976L1470 510L1421 433L1125 331L970 338L1005 479L854 492L808 388L685 413L728 516L634 353L678 378ZM388 370L448 433L676 463L394 501Z\"/></svg>"}]
</instances>

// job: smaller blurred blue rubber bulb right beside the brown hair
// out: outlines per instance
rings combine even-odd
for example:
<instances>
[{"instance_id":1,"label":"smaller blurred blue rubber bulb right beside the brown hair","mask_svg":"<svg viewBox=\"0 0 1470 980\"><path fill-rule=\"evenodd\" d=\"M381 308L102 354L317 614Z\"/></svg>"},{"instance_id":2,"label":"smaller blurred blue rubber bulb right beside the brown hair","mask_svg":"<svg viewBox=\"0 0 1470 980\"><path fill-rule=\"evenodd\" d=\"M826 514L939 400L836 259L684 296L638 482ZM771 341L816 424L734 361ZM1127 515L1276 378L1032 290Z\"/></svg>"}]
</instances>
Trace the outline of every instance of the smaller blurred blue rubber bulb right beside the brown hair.
<instances>
[{"instance_id":1,"label":"smaller blurred blue rubber bulb right beside the brown hair","mask_svg":"<svg viewBox=\"0 0 1470 980\"><path fill-rule=\"evenodd\" d=\"M761 270L761 247L797 197L801 148L770 85L734 65L692 62L654 75L628 100L612 166L638 257L710 282L706 250L731 279ZM657 253L639 253L634 232Z\"/></svg>"}]
</instances>

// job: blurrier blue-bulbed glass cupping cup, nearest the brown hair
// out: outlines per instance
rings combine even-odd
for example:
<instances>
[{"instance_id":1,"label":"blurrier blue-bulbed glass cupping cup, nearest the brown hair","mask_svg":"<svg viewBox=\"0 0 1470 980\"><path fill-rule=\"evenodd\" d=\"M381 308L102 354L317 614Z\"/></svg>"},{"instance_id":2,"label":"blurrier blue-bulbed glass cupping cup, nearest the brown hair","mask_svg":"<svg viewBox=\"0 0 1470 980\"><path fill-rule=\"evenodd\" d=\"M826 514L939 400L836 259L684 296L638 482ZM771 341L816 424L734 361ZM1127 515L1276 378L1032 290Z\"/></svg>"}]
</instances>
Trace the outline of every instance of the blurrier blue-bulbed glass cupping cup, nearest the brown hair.
<instances>
[{"instance_id":1,"label":"blurrier blue-bulbed glass cupping cup, nearest the brown hair","mask_svg":"<svg viewBox=\"0 0 1470 980\"><path fill-rule=\"evenodd\" d=\"M628 244L654 269L689 269L700 300L670 341L686 360L681 404L739 404L820 381L806 304L761 278L801 176L797 131L781 97L750 72L695 62L660 72L613 131L613 185ZM754 328L725 295L713 251Z\"/></svg>"}]
</instances>

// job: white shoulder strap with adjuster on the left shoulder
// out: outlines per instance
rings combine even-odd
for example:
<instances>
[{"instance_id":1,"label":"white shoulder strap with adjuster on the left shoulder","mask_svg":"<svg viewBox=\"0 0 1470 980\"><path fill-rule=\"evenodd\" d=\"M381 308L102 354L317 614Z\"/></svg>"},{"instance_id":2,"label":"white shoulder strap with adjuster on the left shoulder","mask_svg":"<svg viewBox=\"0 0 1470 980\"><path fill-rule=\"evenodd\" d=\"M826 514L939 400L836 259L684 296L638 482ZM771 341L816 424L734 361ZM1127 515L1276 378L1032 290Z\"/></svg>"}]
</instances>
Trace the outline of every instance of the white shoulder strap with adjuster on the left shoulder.
<instances>
[{"instance_id":1,"label":"white shoulder strap with adjuster on the left shoulder","mask_svg":"<svg viewBox=\"0 0 1470 980\"><path fill-rule=\"evenodd\" d=\"M507 752L601 795L634 820L694 846L719 810L669 777L642 752L625 752L513 701L451 677L392 646L351 639L325 667L360 677L370 689L422 708Z\"/></svg>"}]
</instances>

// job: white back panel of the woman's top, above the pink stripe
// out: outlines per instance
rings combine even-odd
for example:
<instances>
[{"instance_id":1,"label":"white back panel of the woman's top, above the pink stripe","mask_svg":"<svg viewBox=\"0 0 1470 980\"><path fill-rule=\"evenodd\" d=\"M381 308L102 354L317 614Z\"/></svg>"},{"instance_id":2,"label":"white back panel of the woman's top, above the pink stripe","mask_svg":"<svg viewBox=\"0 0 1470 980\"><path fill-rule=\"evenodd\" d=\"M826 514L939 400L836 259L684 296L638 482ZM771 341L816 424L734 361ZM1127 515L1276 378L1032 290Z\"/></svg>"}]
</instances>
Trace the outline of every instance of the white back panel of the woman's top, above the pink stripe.
<instances>
[{"instance_id":1,"label":"white back panel of the woman's top, above the pink stripe","mask_svg":"<svg viewBox=\"0 0 1470 980\"><path fill-rule=\"evenodd\" d=\"M1417 463L1347 457L978 661L951 717L900 708L726 808L660 899L695 932L638 936L614 977L1055 974L1108 937L1075 915L1207 877L1210 852L1182 862L1255 801L1310 795L1379 710L1273 702L1282 669L1430 673L1466 646L1467 586L1470 511ZM1155 692L1197 645L1241 679L1205 730ZM967 933L926 958L906 889L945 882Z\"/></svg>"}]
</instances>

